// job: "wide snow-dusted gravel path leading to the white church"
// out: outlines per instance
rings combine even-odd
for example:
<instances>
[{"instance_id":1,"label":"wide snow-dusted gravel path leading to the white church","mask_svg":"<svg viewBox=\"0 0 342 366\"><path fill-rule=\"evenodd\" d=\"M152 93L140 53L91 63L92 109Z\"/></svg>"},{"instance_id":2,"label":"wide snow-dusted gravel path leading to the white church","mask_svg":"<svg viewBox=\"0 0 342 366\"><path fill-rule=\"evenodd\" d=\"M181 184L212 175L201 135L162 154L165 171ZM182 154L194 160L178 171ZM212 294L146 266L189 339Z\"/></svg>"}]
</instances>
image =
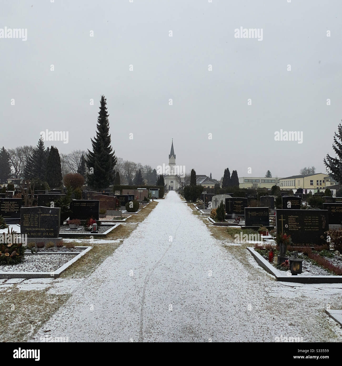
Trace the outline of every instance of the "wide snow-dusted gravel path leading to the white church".
<instances>
[{"instance_id":1,"label":"wide snow-dusted gravel path leading to the white church","mask_svg":"<svg viewBox=\"0 0 342 366\"><path fill-rule=\"evenodd\" d=\"M48 335L71 342L274 341L282 335L336 341L341 336L324 314L327 302L341 294L338 285L278 283L247 250L241 253L239 260L170 191L113 255L79 281L33 340Z\"/></svg>"}]
</instances>

